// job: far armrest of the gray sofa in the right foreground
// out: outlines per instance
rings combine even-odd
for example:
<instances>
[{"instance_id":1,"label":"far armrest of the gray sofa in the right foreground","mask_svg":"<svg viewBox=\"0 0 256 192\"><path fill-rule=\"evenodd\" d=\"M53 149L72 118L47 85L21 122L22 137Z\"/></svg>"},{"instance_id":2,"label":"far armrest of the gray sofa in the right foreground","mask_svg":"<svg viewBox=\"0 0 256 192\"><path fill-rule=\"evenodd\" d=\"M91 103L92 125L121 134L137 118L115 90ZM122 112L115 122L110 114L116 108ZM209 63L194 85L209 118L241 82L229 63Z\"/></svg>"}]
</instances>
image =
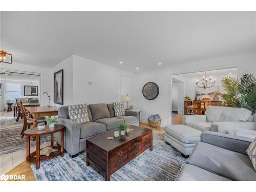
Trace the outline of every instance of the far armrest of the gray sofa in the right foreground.
<instances>
[{"instance_id":1,"label":"far armrest of the gray sofa in the right foreground","mask_svg":"<svg viewBox=\"0 0 256 192\"><path fill-rule=\"evenodd\" d=\"M218 132L204 131L201 134L201 142L245 155L247 155L246 150L252 141L252 138Z\"/></svg>"}]
</instances>

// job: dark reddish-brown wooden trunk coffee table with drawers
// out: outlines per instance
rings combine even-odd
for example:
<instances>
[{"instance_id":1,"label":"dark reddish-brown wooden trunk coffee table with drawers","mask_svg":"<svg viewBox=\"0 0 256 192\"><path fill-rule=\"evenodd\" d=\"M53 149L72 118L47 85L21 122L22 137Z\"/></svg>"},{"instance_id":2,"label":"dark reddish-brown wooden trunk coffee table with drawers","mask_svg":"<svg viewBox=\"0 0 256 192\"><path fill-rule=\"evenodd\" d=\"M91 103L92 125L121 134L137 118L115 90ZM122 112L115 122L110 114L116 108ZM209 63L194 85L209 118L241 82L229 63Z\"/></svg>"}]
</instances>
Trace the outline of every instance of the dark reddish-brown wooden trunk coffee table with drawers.
<instances>
[{"instance_id":1,"label":"dark reddish-brown wooden trunk coffee table with drawers","mask_svg":"<svg viewBox=\"0 0 256 192\"><path fill-rule=\"evenodd\" d=\"M153 150L152 130L129 125L130 133L124 140L114 137L114 131L106 132L86 141L86 165L90 164L110 181L110 176L147 149Z\"/></svg>"}]
</instances>

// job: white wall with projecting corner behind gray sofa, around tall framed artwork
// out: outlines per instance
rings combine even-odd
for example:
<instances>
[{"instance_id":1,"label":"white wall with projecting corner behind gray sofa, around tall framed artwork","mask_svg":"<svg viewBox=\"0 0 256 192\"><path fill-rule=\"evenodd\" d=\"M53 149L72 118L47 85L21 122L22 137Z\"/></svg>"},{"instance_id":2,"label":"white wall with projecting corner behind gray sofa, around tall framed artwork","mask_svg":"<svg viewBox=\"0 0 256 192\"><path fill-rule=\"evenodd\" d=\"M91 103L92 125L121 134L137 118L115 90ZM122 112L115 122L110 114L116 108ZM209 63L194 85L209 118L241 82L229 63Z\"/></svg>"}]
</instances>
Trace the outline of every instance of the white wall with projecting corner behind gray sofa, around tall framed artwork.
<instances>
[{"instance_id":1,"label":"white wall with projecting corner behind gray sofa, around tall framed artwork","mask_svg":"<svg viewBox=\"0 0 256 192\"><path fill-rule=\"evenodd\" d=\"M54 103L54 72L61 69L63 69L64 79L63 105ZM132 88L131 81L121 83L123 75L132 78ZM52 68L51 80L51 105L58 107L78 103L119 102L122 94L132 95L132 100L134 98L133 72L76 55L72 55ZM89 81L92 84L89 84ZM129 104L132 103L133 101Z\"/></svg>"}]
</instances>

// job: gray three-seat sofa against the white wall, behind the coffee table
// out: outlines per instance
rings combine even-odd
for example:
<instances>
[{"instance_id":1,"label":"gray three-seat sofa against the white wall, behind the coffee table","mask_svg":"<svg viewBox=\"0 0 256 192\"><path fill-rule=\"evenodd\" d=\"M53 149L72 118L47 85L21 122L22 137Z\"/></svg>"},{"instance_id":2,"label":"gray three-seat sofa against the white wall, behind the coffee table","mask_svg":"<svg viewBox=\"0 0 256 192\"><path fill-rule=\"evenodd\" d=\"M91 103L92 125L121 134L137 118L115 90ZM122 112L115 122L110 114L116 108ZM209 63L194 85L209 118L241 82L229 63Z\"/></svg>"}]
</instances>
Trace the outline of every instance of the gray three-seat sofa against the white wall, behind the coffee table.
<instances>
[{"instance_id":1,"label":"gray three-seat sofa against the white wall, behind the coffee table","mask_svg":"<svg viewBox=\"0 0 256 192\"><path fill-rule=\"evenodd\" d=\"M116 130L118 125L139 125L139 113L125 111L125 116L115 116L114 104L89 104L88 114L90 122L77 123L69 119L68 106L61 106L58 111L58 123L66 126L64 135L64 148L75 157L86 150L86 139L97 134ZM55 136L57 143L60 143L60 134Z\"/></svg>"}]
</instances>

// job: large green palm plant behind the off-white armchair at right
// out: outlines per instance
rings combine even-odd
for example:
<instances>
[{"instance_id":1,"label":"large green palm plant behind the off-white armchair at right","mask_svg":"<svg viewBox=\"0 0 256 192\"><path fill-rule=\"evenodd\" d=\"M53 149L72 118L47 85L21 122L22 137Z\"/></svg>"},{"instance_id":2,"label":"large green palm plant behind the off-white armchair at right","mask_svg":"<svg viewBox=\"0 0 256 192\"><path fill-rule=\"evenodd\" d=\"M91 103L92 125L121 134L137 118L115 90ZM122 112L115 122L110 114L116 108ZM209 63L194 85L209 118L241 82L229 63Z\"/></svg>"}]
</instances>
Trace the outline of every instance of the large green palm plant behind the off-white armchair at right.
<instances>
[{"instance_id":1,"label":"large green palm plant behind the off-white armchair at right","mask_svg":"<svg viewBox=\"0 0 256 192\"><path fill-rule=\"evenodd\" d=\"M243 74L240 82L237 78L228 76L221 80L226 93L221 94L225 106L245 108L256 113L256 79L252 74Z\"/></svg>"}]
</instances>

